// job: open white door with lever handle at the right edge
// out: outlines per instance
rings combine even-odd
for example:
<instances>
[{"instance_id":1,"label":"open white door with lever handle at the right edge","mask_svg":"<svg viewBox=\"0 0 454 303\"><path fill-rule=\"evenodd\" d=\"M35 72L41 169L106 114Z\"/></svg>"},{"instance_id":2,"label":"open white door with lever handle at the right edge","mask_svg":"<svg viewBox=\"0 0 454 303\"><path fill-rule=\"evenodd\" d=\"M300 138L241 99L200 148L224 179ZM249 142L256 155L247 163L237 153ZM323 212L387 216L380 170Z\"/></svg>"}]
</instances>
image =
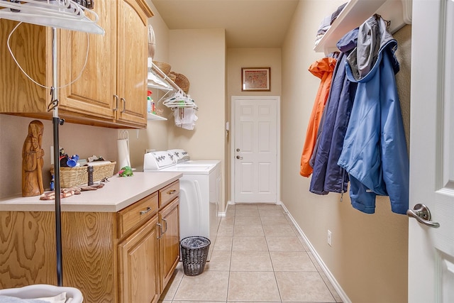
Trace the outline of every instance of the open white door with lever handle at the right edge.
<instances>
[{"instance_id":1,"label":"open white door with lever handle at the right edge","mask_svg":"<svg viewBox=\"0 0 454 303\"><path fill-rule=\"evenodd\" d=\"M409 302L454 302L454 1L414 0L411 43Z\"/></svg>"}]
</instances>

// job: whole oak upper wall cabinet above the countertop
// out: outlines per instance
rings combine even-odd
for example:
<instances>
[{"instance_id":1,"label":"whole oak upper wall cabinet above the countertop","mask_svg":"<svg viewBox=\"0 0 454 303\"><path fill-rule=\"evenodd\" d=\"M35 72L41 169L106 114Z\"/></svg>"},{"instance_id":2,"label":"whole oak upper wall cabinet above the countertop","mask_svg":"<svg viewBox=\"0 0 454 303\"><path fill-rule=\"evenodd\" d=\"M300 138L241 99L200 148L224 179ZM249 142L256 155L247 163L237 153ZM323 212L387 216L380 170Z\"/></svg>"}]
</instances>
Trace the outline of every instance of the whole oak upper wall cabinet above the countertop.
<instances>
[{"instance_id":1,"label":"whole oak upper wall cabinet above the countertop","mask_svg":"<svg viewBox=\"0 0 454 303\"><path fill-rule=\"evenodd\" d=\"M145 0L99 0L94 11L104 35L58 31L60 117L94 126L145 128L148 18L153 12ZM0 112L50 119L49 89L27 79L6 48L16 22L0 22L0 69L8 71L0 75ZM51 37L50 28L22 24L11 40L23 69L49 87Z\"/></svg>"}]
</instances>

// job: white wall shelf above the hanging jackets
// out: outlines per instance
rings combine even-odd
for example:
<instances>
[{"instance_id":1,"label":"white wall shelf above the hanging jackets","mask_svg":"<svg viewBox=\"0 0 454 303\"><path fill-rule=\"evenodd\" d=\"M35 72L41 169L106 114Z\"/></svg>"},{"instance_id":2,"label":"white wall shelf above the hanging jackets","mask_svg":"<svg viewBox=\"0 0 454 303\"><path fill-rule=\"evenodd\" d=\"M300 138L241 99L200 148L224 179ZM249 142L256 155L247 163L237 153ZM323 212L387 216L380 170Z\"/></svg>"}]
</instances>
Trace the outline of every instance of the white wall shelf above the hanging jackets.
<instances>
[{"instance_id":1,"label":"white wall shelf above the hanging jackets","mask_svg":"<svg viewBox=\"0 0 454 303\"><path fill-rule=\"evenodd\" d=\"M333 53L339 51L336 44L348 33L360 26L374 13L391 21L389 30L395 33L405 24L411 24L411 0L350 0L339 16L326 31L319 44L314 48L316 53ZM315 36L315 35L314 35Z\"/></svg>"}]
</instances>

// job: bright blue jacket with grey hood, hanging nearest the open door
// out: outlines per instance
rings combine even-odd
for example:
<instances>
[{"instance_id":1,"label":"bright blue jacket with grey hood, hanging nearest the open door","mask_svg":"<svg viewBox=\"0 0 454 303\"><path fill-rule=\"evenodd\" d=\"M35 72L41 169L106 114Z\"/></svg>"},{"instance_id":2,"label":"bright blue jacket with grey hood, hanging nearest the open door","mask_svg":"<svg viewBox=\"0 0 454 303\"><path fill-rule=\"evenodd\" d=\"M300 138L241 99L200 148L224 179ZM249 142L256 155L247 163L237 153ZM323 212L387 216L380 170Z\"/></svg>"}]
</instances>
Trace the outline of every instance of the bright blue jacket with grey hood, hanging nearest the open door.
<instances>
[{"instance_id":1,"label":"bright blue jacket with grey hood, hanging nearest the open door","mask_svg":"<svg viewBox=\"0 0 454 303\"><path fill-rule=\"evenodd\" d=\"M338 165L350 177L355 209L375 212L376 195L389 196L391 209L409 206L409 158L394 74L397 41L380 16L360 26L358 47L348 55L347 77L358 82Z\"/></svg>"}]
</instances>

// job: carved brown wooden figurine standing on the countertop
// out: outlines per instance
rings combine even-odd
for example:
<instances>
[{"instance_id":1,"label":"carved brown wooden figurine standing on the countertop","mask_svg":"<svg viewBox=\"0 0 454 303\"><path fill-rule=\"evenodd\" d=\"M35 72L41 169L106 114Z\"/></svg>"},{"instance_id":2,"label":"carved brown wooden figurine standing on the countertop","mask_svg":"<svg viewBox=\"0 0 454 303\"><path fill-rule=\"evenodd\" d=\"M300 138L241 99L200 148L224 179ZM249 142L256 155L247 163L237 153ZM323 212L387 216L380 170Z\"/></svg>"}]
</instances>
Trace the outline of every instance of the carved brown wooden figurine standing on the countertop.
<instances>
[{"instance_id":1,"label":"carved brown wooden figurine standing on the countertop","mask_svg":"<svg viewBox=\"0 0 454 303\"><path fill-rule=\"evenodd\" d=\"M33 120L28 124L28 136L22 148L22 197L43 194L43 143L44 125Z\"/></svg>"}]
</instances>

